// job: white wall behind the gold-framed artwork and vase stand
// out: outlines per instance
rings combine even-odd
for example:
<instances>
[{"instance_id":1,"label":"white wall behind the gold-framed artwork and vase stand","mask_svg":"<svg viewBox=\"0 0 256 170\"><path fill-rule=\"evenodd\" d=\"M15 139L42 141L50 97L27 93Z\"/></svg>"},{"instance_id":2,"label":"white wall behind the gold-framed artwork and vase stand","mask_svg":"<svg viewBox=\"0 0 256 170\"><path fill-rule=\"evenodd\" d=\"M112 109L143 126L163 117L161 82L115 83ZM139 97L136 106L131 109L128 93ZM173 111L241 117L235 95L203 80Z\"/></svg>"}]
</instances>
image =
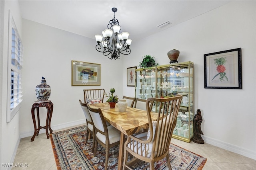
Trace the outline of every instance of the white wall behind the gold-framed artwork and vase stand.
<instances>
[{"instance_id":1,"label":"white wall behind the gold-framed artwork and vase stand","mask_svg":"<svg viewBox=\"0 0 256 170\"><path fill-rule=\"evenodd\" d=\"M79 99L84 101L83 89L104 88L108 93L110 88L115 88L115 94L122 96L122 59L110 60L104 57L96 51L94 39L30 20L23 20L22 29L24 101L20 113L21 137L34 133L30 111L37 100L35 88L40 84L42 76L52 90L49 100L54 104L51 121L53 130L84 123L84 114L78 102ZM72 60L101 64L101 86L71 86ZM46 113L46 108L41 107L41 124L46 120Z\"/></svg>"}]
</instances>

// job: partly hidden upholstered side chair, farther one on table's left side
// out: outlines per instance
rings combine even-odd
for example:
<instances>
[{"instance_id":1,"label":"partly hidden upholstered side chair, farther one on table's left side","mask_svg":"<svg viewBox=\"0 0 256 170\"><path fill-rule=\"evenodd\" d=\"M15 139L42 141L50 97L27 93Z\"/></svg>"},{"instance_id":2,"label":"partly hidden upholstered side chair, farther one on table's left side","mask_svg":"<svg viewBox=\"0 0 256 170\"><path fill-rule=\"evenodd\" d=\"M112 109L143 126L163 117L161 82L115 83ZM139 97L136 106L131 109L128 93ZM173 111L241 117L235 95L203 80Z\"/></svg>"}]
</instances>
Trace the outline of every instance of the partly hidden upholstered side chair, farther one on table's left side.
<instances>
[{"instance_id":1,"label":"partly hidden upholstered side chair, farther one on table's left side","mask_svg":"<svg viewBox=\"0 0 256 170\"><path fill-rule=\"evenodd\" d=\"M92 152L94 151L94 146L95 146L95 137L94 137L94 125L92 122L92 118L90 116L89 110L86 107L85 103L82 103L81 100L79 100L80 105L82 107L82 110L84 112L84 116L86 118L86 141L85 144L87 143L88 139L92 137L93 143L92 143Z\"/></svg>"}]
</instances>

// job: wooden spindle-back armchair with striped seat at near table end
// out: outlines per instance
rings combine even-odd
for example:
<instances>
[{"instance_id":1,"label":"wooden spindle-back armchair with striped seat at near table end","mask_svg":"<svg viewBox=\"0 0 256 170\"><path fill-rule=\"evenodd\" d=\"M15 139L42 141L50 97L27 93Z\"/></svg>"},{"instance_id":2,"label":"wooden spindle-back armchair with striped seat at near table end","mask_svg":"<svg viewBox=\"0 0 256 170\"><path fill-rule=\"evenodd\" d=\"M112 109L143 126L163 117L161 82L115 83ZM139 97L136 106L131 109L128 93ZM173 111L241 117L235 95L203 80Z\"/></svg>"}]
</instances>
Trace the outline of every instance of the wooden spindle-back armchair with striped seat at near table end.
<instances>
[{"instance_id":1,"label":"wooden spindle-back armchair with striped seat at near table end","mask_svg":"<svg viewBox=\"0 0 256 170\"><path fill-rule=\"evenodd\" d=\"M172 169L169 158L169 146L181 100L182 95L179 94L172 98L148 98L146 100L149 130L147 133L127 137L124 143L123 169L130 168L139 159L149 162L150 170L154 170L154 162L163 158L166 158L168 168ZM151 119L150 105L152 105L152 102L158 106L158 118L156 121ZM128 153L134 156L129 162L127 162Z\"/></svg>"}]
</instances>

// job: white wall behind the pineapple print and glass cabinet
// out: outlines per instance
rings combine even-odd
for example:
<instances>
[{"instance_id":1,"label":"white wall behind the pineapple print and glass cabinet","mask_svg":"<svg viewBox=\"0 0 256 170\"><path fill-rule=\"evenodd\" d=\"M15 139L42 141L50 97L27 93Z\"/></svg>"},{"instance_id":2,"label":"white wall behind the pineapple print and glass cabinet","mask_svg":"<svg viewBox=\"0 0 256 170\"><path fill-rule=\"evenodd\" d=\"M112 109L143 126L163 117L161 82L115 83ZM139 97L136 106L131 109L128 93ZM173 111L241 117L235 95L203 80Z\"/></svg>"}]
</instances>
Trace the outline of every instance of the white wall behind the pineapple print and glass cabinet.
<instances>
[{"instance_id":1,"label":"white wall behind the pineapple print and glass cabinet","mask_svg":"<svg viewBox=\"0 0 256 170\"><path fill-rule=\"evenodd\" d=\"M202 111L204 141L256 159L255 28L256 2L230 2L133 43L124 67L138 65L145 54L168 64L167 52L180 50L179 62L194 62L194 109ZM240 47L243 89L204 89L204 54ZM124 86L124 95L132 92L134 88Z\"/></svg>"}]
</instances>

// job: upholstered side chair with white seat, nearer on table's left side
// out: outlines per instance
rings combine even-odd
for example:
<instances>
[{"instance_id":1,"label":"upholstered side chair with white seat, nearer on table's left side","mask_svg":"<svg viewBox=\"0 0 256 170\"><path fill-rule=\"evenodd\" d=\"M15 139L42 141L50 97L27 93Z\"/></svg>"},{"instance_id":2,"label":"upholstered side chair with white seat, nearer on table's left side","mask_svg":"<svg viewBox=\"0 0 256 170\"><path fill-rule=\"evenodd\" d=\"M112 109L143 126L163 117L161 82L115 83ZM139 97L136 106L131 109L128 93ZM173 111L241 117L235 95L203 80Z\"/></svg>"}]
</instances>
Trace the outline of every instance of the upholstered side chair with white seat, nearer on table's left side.
<instances>
[{"instance_id":1,"label":"upholstered side chair with white seat, nearer on table's left side","mask_svg":"<svg viewBox=\"0 0 256 170\"><path fill-rule=\"evenodd\" d=\"M120 131L118 131L112 125L107 126L104 116L100 108L92 108L88 104L87 108L92 117L94 123L94 137L95 137L95 147L94 147L94 156L96 156L97 145L98 143L106 149L106 160L105 160L105 170L108 167L108 157L109 150L111 147L114 147L120 143Z\"/></svg>"}]
</instances>

